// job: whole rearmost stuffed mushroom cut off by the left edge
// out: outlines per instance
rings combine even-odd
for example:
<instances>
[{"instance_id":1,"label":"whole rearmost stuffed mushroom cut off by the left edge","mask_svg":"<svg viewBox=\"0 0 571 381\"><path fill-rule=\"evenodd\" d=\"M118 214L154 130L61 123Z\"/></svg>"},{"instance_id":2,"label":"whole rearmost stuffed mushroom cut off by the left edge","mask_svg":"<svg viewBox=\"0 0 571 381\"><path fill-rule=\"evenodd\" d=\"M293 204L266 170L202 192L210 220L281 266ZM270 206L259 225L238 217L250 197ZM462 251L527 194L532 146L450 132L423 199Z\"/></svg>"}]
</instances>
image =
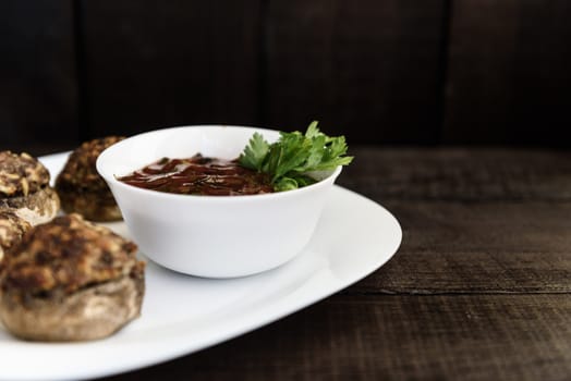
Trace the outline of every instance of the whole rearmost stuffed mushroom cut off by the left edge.
<instances>
[{"instance_id":1,"label":"whole rearmost stuffed mushroom cut off by the left edge","mask_svg":"<svg viewBox=\"0 0 571 381\"><path fill-rule=\"evenodd\" d=\"M11 210L32 225L50 221L60 210L50 174L27 153L0 152L0 210Z\"/></svg>"}]
</instances>

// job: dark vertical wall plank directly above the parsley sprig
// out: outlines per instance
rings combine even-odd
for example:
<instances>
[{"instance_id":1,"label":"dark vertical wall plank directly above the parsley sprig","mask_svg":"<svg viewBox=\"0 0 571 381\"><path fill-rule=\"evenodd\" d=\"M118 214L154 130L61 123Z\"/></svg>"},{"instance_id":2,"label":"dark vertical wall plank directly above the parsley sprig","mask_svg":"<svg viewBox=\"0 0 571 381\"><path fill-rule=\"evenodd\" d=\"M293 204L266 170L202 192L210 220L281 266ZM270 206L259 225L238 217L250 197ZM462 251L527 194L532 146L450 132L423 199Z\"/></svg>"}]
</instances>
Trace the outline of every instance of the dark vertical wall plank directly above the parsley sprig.
<instances>
[{"instance_id":1,"label":"dark vertical wall plank directly above the parsley sprig","mask_svg":"<svg viewBox=\"0 0 571 381\"><path fill-rule=\"evenodd\" d=\"M267 13L266 124L436 142L442 0L270 1Z\"/></svg>"}]
</instances>

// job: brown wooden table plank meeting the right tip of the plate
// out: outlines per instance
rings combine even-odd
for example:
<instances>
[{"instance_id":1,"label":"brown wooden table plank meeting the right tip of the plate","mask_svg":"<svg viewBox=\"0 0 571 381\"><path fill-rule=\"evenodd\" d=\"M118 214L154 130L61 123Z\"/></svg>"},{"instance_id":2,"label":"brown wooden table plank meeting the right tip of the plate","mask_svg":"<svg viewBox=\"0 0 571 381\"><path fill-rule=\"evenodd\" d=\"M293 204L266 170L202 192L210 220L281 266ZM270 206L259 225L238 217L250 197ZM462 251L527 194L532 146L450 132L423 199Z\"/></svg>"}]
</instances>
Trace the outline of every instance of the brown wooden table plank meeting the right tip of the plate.
<instances>
[{"instance_id":1,"label":"brown wooden table plank meeting the right tip of the plate","mask_svg":"<svg viewBox=\"0 0 571 381\"><path fill-rule=\"evenodd\" d=\"M571 202L386 206L402 246L350 292L571 293Z\"/></svg>"}]
</instances>

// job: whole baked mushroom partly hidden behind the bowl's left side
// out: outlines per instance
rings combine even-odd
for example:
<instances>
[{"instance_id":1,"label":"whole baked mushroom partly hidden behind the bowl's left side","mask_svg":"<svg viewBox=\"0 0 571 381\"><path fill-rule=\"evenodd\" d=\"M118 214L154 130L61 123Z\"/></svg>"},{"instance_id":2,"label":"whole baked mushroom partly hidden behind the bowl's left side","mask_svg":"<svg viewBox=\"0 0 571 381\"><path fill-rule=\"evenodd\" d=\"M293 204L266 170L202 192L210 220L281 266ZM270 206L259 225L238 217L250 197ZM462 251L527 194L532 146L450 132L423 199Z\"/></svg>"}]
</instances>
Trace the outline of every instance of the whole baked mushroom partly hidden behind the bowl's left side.
<instances>
[{"instance_id":1,"label":"whole baked mushroom partly hidden behind the bowl's left side","mask_svg":"<svg viewBox=\"0 0 571 381\"><path fill-rule=\"evenodd\" d=\"M111 190L95 167L99 155L122 139L122 136L108 136L85 142L70 155L56 180L64 211L80 213L92 221L122 218Z\"/></svg>"}]
</instances>

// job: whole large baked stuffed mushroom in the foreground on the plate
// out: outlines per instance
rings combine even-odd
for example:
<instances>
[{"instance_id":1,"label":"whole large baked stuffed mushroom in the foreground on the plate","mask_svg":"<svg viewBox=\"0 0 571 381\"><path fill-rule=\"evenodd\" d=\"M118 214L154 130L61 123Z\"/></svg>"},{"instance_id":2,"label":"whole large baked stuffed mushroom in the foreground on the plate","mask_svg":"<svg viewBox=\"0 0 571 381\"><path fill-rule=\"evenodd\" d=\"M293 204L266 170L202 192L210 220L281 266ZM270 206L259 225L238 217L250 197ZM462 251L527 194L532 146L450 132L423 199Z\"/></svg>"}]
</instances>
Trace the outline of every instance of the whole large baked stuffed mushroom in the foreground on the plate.
<instances>
[{"instance_id":1,"label":"whole large baked stuffed mushroom in the foreground on the plate","mask_svg":"<svg viewBox=\"0 0 571 381\"><path fill-rule=\"evenodd\" d=\"M0 319L35 341L101 339L141 315L136 245L78 214L26 233L0 269Z\"/></svg>"}]
</instances>

